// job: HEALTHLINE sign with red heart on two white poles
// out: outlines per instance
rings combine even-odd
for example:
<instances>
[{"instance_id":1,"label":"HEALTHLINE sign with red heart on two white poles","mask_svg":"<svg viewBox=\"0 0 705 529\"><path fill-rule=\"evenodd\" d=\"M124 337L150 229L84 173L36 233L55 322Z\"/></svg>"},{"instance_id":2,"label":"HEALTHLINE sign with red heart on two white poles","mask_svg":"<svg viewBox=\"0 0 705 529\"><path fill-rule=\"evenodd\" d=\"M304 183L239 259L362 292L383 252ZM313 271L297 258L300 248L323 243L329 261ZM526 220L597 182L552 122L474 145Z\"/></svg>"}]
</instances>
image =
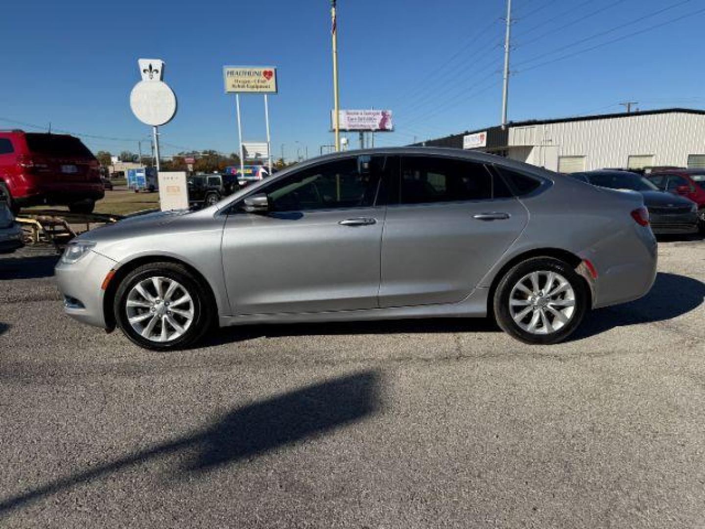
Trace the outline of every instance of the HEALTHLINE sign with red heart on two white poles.
<instances>
[{"instance_id":1,"label":"HEALTHLINE sign with red heart on two white poles","mask_svg":"<svg viewBox=\"0 0 705 529\"><path fill-rule=\"evenodd\" d=\"M240 94L264 94L264 121L266 122L266 156L271 175L271 138L269 135L269 94L277 93L276 68L272 66L223 66L225 93L235 94L240 141L240 175L245 176L245 148L243 122L240 116Z\"/></svg>"}]
</instances>

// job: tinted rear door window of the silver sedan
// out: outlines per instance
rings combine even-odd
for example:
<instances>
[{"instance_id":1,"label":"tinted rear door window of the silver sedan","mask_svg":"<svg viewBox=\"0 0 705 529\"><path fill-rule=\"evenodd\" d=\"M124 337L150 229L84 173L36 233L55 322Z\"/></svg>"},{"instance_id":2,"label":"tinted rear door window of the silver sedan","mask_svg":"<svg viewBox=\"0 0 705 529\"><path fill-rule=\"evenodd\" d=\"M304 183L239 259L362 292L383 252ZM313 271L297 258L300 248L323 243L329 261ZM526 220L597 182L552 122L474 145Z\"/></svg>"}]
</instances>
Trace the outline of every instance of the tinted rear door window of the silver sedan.
<instances>
[{"instance_id":1,"label":"tinted rear door window of the silver sedan","mask_svg":"<svg viewBox=\"0 0 705 529\"><path fill-rule=\"evenodd\" d=\"M483 164L441 157L403 157L400 204L490 200L492 174Z\"/></svg>"}]
</instances>

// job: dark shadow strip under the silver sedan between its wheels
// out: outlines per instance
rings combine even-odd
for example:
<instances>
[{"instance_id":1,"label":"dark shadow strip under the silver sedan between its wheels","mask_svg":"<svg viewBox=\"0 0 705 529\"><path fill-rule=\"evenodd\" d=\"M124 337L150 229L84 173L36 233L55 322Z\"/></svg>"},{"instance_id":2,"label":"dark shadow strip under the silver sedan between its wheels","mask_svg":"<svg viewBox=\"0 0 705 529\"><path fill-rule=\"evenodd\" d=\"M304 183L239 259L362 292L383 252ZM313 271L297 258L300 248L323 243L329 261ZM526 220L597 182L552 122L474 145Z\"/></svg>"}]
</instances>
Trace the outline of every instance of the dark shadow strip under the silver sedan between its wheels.
<instances>
[{"instance_id":1,"label":"dark shadow strip under the silver sedan between its wheels","mask_svg":"<svg viewBox=\"0 0 705 529\"><path fill-rule=\"evenodd\" d=\"M417 334L448 332L498 332L489 318L414 318L411 320L372 320L365 322L323 322L252 324L223 327L205 339L202 347L257 338L282 336L338 336L343 334Z\"/></svg>"}]
</instances>

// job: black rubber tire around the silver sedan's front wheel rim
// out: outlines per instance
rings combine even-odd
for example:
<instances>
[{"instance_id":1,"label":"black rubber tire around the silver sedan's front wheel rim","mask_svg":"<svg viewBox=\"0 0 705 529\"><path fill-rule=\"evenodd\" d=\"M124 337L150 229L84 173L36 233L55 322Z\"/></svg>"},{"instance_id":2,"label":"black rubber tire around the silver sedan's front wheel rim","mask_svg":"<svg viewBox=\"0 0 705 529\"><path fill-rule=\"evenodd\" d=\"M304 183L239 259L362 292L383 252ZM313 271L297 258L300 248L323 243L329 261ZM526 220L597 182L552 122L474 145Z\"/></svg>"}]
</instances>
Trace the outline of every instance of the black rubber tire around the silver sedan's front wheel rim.
<instances>
[{"instance_id":1,"label":"black rubber tire around the silver sedan's front wheel rim","mask_svg":"<svg viewBox=\"0 0 705 529\"><path fill-rule=\"evenodd\" d=\"M177 281L193 301L193 320L185 333L172 341L159 342L146 339L133 329L128 321L126 303L128 294L140 281L150 277L161 276ZM188 269L173 262L154 262L142 265L130 272L121 281L115 294L113 310L118 327L125 336L138 346L152 351L173 351L187 348L200 341L203 336L213 327L214 323L214 302L208 296L208 287L202 281L191 274Z\"/></svg>"}]
</instances>

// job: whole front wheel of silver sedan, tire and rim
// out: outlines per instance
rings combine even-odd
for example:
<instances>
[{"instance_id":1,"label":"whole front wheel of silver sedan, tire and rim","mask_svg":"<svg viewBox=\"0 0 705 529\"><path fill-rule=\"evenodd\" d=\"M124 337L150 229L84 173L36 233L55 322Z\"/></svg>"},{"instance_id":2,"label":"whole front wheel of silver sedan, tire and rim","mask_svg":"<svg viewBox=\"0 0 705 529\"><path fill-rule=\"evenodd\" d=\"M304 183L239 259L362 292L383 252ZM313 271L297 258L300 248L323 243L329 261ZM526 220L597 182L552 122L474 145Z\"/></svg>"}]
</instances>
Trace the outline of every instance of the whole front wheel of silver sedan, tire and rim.
<instances>
[{"instance_id":1,"label":"whole front wheel of silver sedan, tire and rim","mask_svg":"<svg viewBox=\"0 0 705 529\"><path fill-rule=\"evenodd\" d=\"M212 303L188 270L176 263L143 265L118 286L116 321L125 336L154 351L185 348L202 339L213 320Z\"/></svg>"}]
</instances>

